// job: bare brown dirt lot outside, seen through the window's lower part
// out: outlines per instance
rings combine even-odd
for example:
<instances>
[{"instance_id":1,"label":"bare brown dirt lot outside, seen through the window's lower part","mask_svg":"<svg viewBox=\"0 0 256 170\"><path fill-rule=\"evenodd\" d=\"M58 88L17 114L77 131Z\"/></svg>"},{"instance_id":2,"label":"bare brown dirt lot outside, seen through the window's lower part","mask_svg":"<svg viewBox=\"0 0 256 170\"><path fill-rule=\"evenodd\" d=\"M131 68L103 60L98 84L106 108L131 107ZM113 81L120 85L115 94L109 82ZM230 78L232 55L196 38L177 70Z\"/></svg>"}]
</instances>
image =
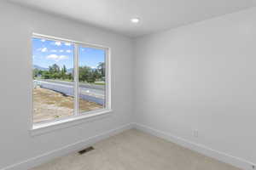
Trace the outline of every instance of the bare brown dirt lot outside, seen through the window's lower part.
<instances>
[{"instance_id":1,"label":"bare brown dirt lot outside, seen through the window's lower part","mask_svg":"<svg viewBox=\"0 0 256 170\"><path fill-rule=\"evenodd\" d=\"M33 89L33 122L45 122L54 118L73 115L74 98L45 88ZM79 100L80 111L102 109L102 105L84 99Z\"/></svg>"}]
</instances>

